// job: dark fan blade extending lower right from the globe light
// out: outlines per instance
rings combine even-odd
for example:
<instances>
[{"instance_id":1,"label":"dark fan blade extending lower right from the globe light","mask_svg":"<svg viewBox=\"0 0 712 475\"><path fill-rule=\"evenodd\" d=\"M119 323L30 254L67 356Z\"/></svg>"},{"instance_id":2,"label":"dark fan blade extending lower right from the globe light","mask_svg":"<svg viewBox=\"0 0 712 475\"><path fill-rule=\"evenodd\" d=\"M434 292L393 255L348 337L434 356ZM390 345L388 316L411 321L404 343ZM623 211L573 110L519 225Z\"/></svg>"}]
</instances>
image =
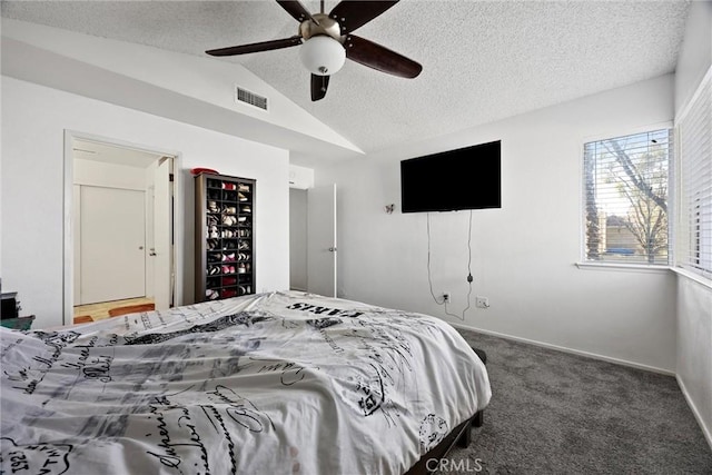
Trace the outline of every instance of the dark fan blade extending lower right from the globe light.
<instances>
[{"instance_id":1,"label":"dark fan blade extending lower right from the globe light","mask_svg":"<svg viewBox=\"0 0 712 475\"><path fill-rule=\"evenodd\" d=\"M423 70L421 63L355 34L346 37L344 48L346 58L388 75L415 78Z\"/></svg>"}]
</instances>

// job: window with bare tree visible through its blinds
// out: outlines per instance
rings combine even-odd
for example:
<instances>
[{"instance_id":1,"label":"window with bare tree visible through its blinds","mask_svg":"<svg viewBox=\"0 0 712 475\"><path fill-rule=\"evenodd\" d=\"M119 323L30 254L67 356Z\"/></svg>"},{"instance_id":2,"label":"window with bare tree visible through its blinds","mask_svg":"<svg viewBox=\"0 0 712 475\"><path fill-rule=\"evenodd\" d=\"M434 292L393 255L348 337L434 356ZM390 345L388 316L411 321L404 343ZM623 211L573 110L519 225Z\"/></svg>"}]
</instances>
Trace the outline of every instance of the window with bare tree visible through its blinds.
<instances>
[{"instance_id":1,"label":"window with bare tree visible through its blinds","mask_svg":"<svg viewBox=\"0 0 712 475\"><path fill-rule=\"evenodd\" d=\"M669 265L672 130L584 145L586 261Z\"/></svg>"}]
</instances>

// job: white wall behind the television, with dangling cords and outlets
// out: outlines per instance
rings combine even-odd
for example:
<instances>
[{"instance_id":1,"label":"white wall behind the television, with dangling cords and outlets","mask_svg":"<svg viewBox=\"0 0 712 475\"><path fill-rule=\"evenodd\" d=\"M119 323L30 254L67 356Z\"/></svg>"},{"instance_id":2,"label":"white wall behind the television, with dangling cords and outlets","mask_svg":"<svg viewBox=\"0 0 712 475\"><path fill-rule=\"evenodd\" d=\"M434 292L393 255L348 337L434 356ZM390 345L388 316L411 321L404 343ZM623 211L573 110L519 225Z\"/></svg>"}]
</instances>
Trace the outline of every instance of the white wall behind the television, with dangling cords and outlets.
<instances>
[{"instance_id":1,"label":"white wall behind the television, with dangling cords and outlets","mask_svg":"<svg viewBox=\"0 0 712 475\"><path fill-rule=\"evenodd\" d=\"M339 189L339 296L673 372L674 276L574 265L582 248L583 142L672 118L668 75L318 169L317 185ZM461 320L468 211L431 214L433 290L452 294L454 317L429 294L427 216L387 215L384 206L399 209L400 159L492 140L502 140L503 207L473 212L473 301ZM473 186L485 184L473 176ZM475 296L488 297L491 308L475 308Z\"/></svg>"}]
</instances>

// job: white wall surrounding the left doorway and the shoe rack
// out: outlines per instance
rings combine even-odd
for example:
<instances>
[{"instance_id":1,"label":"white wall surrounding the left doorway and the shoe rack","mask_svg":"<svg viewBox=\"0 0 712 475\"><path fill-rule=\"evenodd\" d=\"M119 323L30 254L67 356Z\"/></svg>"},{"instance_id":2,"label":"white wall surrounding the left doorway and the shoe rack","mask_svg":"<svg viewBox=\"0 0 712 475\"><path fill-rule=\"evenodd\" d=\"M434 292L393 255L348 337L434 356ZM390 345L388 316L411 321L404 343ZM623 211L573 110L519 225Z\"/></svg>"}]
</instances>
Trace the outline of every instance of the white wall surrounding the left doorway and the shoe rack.
<instances>
[{"instance_id":1,"label":"white wall surrounding the left doorway and the shoe rack","mask_svg":"<svg viewBox=\"0 0 712 475\"><path fill-rule=\"evenodd\" d=\"M192 167L257 180L256 290L288 287L286 150L4 76L1 92L2 287L37 316L33 328L61 324L66 129L178 155L179 305L194 295Z\"/></svg>"}]
</instances>

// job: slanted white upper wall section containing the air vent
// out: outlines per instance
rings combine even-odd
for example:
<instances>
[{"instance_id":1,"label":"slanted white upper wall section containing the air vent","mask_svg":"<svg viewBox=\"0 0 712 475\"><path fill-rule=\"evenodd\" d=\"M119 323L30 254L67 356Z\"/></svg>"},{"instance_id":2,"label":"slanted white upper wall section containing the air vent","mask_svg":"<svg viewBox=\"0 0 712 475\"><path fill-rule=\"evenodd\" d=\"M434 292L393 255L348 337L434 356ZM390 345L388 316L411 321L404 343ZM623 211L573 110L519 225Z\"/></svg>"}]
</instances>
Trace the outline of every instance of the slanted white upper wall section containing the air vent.
<instances>
[{"instance_id":1,"label":"slanted white upper wall section containing the air vent","mask_svg":"<svg viewBox=\"0 0 712 475\"><path fill-rule=\"evenodd\" d=\"M240 65L39 23L1 21L6 76L290 147L293 155L360 154L358 147ZM236 102L236 85L267 97L269 112Z\"/></svg>"}]
</instances>

